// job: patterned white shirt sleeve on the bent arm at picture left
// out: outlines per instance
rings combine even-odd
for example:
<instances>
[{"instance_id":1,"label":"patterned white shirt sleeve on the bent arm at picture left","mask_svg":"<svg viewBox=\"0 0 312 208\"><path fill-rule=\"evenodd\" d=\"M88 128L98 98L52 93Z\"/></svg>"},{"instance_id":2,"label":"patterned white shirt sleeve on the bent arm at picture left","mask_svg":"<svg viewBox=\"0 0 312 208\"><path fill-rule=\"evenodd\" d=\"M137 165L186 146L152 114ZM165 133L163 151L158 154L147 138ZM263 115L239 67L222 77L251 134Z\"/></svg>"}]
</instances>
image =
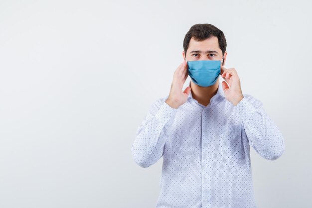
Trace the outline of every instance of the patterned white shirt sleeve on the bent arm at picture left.
<instances>
[{"instance_id":1,"label":"patterned white shirt sleeve on the bent arm at picture left","mask_svg":"<svg viewBox=\"0 0 312 208\"><path fill-rule=\"evenodd\" d=\"M144 117L138 127L131 151L134 161L147 168L158 161L163 154L169 128L177 109L165 103L166 99L158 99Z\"/></svg>"}]
</instances>

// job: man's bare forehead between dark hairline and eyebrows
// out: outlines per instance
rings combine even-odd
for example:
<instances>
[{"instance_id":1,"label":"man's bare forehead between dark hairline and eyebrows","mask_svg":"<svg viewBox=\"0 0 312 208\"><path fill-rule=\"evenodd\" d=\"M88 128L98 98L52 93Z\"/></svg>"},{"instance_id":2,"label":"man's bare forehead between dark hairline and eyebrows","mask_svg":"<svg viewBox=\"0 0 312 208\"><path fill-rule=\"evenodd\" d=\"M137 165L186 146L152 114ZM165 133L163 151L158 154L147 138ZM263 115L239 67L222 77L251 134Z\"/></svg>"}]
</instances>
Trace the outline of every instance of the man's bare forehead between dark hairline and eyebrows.
<instances>
[{"instance_id":1,"label":"man's bare forehead between dark hairline and eyebrows","mask_svg":"<svg viewBox=\"0 0 312 208\"><path fill-rule=\"evenodd\" d=\"M211 36L202 41L195 40L193 37L190 39L188 44L187 51L207 51L207 50L214 50L214 51L221 51L219 48L219 41L216 36Z\"/></svg>"}]
</instances>

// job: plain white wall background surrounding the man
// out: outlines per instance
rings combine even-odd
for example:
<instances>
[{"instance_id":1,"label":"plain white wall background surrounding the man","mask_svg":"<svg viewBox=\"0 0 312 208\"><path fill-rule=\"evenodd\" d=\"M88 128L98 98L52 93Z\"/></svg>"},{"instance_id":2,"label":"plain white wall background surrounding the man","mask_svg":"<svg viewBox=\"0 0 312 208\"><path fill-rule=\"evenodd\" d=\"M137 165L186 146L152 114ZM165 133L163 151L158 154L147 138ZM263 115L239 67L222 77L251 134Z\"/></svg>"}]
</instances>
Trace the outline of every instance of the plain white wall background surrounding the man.
<instances>
[{"instance_id":1,"label":"plain white wall background surrounding the man","mask_svg":"<svg viewBox=\"0 0 312 208\"><path fill-rule=\"evenodd\" d=\"M131 146L150 106L168 95L196 23L224 32L225 67L285 138L276 161L251 149L258 207L311 206L311 8L308 0L0 0L0 207L155 207L162 158L141 168Z\"/></svg>"}]
</instances>

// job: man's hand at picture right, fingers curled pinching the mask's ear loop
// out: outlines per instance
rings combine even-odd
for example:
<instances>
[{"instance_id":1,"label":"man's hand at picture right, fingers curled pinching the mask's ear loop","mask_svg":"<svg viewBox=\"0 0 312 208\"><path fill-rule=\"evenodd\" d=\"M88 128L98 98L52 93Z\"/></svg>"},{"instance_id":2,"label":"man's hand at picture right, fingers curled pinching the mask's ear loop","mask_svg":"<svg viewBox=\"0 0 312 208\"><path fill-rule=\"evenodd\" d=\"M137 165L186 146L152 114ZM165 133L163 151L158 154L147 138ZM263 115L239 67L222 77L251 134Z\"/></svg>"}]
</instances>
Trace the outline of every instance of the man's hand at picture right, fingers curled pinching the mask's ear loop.
<instances>
[{"instance_id":1,"label":"man's hand at picture right, fingers curled pinching the mask's ear loop","mask_svg":"<svg viewBox=\"0 0 312 208\"><path fill-rule=\"evenodd\" d=\"M233 105L237 105L243 98L241 90L241 82L234 68L226 69L221 64L221 77L226 81L222 82L222 88L225 94L226 100Z\"/></svg>"}]
</instances>

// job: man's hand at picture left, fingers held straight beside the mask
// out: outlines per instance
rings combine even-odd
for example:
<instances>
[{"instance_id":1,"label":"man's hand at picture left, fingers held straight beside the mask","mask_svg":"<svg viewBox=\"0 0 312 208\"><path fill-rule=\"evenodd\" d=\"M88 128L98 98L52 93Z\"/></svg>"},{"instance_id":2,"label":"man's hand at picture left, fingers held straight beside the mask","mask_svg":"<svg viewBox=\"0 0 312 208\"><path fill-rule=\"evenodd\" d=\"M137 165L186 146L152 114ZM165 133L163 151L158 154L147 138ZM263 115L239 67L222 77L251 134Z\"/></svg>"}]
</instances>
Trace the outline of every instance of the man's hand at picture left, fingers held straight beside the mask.
<instances>
[{"instance_id":1,"label":"man's hand at picture left, fingers held straight beside the mask","mask_svg":"<svg viewBox=\"0 0 312 208\"><path fill-rule=\"evenodd\" d=\"M185 88L184 92L182 92L182 87L187 76L187 62L184 60L174 71L169 97L165 101L173 108L178 108L180 105L184 104L187 101L189 93L191 92L191 88L189 86Z\"/></svg>"}]
</instances>

